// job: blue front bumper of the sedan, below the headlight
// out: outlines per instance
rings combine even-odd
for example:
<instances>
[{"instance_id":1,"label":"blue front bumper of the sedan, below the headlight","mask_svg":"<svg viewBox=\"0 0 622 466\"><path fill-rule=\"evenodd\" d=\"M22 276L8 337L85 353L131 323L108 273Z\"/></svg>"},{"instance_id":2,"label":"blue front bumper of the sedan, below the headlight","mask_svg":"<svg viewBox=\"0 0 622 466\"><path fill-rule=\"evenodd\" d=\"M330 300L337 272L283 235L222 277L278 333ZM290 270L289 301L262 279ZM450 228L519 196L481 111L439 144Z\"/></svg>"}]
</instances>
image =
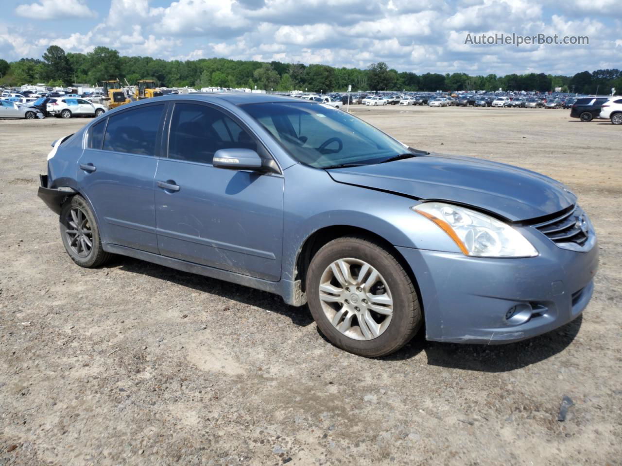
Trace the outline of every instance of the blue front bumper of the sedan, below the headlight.
<instances>
[{"instance_id":1,"label":"blue front bumper of the sedan, below the headlight","mask_svg":"<svg viewBox=\"0 0 622 466\"><path fill-rule=\"evenodd\" d=\"M575 252L550 243L531 258L476 258L398 247L417 277L426 338L509 343L577 318L592 298L598 245ZM511 309L522 314L508 318Z\"/></svg>"}]
</instances>

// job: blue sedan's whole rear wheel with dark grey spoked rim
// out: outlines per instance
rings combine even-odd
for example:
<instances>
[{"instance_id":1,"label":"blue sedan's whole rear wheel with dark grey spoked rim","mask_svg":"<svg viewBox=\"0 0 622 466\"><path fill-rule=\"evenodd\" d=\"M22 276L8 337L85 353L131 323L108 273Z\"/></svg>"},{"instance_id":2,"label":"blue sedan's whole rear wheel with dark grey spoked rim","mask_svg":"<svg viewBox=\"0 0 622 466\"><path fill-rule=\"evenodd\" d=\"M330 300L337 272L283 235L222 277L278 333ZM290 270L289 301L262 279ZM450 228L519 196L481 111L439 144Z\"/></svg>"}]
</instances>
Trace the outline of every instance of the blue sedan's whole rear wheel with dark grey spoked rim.
<instances>
[{"instance_id":1,"label":"blue sedan's whole rear wheel with dark grey spoked rim","mask_svg":"<svg viewBox=\"0 0 622 466\"><path fill-rule=\"evenodd\" d=\"M73 196L60 211L60 236L67 254L80 267L99 267L110 257L101 247L95 216L82 196Z\"/></svg>"}]
</instances>

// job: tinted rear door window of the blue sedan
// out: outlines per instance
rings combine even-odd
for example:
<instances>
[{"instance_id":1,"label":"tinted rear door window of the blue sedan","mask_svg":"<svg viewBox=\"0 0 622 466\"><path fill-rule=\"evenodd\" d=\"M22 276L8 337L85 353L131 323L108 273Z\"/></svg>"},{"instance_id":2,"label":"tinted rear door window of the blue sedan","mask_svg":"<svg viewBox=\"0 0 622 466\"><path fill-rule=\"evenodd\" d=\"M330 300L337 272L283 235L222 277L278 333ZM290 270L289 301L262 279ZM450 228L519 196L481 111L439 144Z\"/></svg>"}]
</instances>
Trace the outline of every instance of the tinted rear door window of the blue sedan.
<instances>
[{"instance_id":1,"label":"tinted rear door window of the blue sedan","mask_svg":"<svg viewBox=\"0 0 622 466\"><path fill-rule=\"evenodd\" d=\"M108 117L104 150L156 155L156 137L164 105L136 107Z\"/></svg>"}]
</instances>

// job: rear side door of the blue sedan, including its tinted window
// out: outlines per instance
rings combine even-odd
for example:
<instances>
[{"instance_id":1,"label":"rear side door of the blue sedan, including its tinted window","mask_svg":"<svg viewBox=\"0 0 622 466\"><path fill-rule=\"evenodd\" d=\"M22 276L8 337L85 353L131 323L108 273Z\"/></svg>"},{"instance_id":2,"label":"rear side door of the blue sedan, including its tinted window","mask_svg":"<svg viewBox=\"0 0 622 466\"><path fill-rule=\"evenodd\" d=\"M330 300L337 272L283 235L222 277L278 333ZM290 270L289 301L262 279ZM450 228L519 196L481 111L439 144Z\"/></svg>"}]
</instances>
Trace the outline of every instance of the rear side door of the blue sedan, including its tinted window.
<instances>
[{"instance_id":1,"label":"rear side door of the blue sedan, including its tinted window","mask_svg":"<svg viewBox=\"0 0 622 466\"><path fill-rule=\"evenodd\" d=\"M158 253L154 176L164 107L146 104L114 112L88 132L78 186L106 243Z\"/></svg>"}]
</instances>

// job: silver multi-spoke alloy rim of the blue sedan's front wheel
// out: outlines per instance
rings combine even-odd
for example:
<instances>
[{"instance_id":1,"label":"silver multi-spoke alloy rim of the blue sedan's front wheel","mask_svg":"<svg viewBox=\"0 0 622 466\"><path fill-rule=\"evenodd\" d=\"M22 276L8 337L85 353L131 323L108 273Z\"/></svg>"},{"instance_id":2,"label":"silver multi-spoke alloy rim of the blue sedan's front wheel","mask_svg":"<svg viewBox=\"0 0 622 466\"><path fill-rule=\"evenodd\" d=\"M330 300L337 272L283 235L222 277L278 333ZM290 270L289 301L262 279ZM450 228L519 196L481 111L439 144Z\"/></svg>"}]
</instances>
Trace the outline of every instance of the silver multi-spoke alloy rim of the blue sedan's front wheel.
<instances>
[{"instance_id":1,"label":"silver multi-spoke alloy rim of the blue sedan's front wheel","mask_svg":"<svg viewBox=\"0 0 622 466\"><path fill-rule=\"evenodd\" d=\"M391 323L391 290L381 273L363 260L342 258L328 265L318 292L326 317L347 337L372 340Z\"/></svg>"}]
</instances>

